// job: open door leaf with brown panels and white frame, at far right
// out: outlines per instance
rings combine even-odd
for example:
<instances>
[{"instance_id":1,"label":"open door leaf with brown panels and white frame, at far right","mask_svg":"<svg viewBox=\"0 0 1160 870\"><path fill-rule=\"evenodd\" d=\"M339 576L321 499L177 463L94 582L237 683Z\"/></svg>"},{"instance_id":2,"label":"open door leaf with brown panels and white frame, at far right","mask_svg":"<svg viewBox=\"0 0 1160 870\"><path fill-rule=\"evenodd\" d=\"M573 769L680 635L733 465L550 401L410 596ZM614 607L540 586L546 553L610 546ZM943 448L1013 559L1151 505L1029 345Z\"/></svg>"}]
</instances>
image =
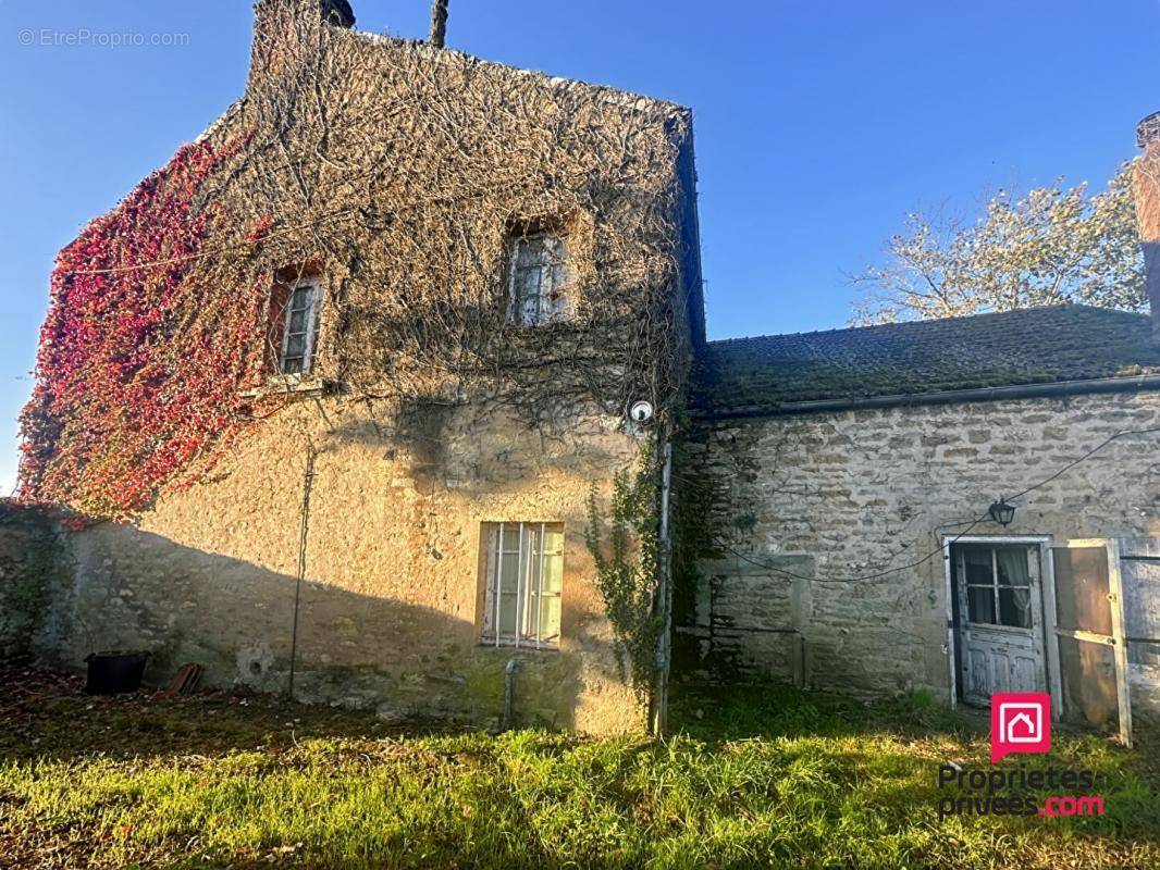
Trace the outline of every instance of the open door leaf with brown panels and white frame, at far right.
<instances>
[{"instance_id":1,"label":"open door leaf with brown panels and white frame, at far right","mask_svg":"<svg viewBox=\"0 0 1160 870\"><path fill-rule=\"evenodd\" d=\"M1131 746L1128 644L1119 545L1105 538L1051 548L1054 611L1052 657L1063 718L1118 731Z\"/></svg>"}]
</instances>

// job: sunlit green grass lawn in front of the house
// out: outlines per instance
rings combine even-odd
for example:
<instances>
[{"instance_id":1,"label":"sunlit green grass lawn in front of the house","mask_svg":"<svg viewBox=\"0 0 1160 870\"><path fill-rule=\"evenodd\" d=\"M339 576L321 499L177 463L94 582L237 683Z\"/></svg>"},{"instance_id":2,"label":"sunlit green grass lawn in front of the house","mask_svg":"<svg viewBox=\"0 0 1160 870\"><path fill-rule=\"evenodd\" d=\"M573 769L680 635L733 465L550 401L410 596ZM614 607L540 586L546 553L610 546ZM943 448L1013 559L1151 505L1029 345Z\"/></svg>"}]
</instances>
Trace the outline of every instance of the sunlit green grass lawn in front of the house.
<instances>
[{"instance_id":1,"label":"sunlit green grass lawn in front of the house","mask_svg":"<svg viewBox=\"0 0 1160 870\"><path fill-rule=\"evenodd\" d=\"M1158 744L1056 734L1099 818L938 820L985 723L921 697L677 698L664 742L398 731L273 698L88 698L0 669L0 867L1155 868ZM1041 796L1074 793L1045 790Z\"/></svg>"}]
</instances>

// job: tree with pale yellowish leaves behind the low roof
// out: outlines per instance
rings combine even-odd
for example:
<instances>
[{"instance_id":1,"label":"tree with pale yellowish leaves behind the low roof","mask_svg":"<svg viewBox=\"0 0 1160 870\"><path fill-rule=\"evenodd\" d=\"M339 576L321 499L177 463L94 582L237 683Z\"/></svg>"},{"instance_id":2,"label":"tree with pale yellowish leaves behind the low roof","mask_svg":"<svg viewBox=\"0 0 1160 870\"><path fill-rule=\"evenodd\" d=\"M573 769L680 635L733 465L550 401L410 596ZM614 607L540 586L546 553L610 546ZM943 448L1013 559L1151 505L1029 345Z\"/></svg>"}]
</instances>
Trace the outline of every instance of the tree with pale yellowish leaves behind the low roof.
<instances>
[{"instance_id":1,"label":"tree with pale yellowish leaves behind the low roof","mask_svg":"<svg viewBox=\"0 0 1160 870\"><path fill-rule=\"evenodd\" d=\"M1087 184L999 190L974 224L907 215L887 259L853 280L867 291L853 322L927 320L1064 302L1139 311L1147 305L1131 164L1107 190Z\"/></svg>"}]
</instances>

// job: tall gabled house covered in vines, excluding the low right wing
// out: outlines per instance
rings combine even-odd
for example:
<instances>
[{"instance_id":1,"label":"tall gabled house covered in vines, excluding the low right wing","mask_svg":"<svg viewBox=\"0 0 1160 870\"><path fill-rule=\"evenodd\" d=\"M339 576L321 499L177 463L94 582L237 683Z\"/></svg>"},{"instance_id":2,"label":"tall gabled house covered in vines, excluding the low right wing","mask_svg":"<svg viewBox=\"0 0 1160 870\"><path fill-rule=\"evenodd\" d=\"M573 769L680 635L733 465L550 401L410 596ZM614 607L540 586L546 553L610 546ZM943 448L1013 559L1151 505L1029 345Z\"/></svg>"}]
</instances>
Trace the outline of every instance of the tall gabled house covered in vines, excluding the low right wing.
<instances>
[{"instance_id":1,"label":"tall gabled house covered in vines, excluding the low right wing","mask_svg":"<svg viewBox=\"0 0 1160 870\"><path fill-rule=\"evenodd\" d=\"M703 343L689 113L353 23L259 2L244 97L61 253L24 495L103 521L26 645L641 730L585 531Z\"/></svg>"}]
</instances>

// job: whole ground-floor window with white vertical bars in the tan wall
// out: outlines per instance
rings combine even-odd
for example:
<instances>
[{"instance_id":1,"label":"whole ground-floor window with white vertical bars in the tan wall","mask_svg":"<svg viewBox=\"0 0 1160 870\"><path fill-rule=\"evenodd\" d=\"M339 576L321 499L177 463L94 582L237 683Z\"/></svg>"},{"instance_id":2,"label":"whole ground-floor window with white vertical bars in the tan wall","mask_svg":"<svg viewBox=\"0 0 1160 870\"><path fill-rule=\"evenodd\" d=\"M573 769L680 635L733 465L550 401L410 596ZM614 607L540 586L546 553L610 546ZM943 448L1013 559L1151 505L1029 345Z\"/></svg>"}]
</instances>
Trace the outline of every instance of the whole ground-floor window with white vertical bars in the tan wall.
<instances>
[{"instance_id":1,"label":"whole ground-floor window with white vertical bars in the tan wall","mask_svg":"<svg viewBox=\"0 0 1160 870\"><path fill-rule=\"evenodd\" d=\"M560 645L564 527L485 523L483 643L556 650Z\"/></svg>"}]
</instances>

